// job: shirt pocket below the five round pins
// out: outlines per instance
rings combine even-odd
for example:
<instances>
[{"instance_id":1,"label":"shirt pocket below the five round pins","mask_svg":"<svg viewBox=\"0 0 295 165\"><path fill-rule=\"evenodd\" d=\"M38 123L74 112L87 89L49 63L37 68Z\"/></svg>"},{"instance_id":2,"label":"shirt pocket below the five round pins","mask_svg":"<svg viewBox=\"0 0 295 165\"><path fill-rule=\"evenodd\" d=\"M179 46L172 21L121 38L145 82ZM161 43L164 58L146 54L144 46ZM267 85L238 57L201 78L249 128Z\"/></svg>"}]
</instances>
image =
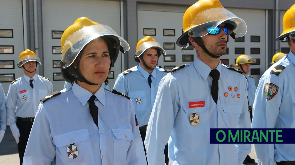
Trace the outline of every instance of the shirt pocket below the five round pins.
<instances>
[{"instance_id":1,"label":"shirt pocket below the five round pins","mask_svg":"<svg viewBox=\"0 0 295 165\"><path fill-rule=\"evenodd\" d=\"M242 113L242 105L222 105L223 110L223 118L224 122L226 122L226 125L228 128L236 128L237 122L240 118L240 115ZM248 115L248 114L247 114Z\"/></svg>"}]
</instances>

